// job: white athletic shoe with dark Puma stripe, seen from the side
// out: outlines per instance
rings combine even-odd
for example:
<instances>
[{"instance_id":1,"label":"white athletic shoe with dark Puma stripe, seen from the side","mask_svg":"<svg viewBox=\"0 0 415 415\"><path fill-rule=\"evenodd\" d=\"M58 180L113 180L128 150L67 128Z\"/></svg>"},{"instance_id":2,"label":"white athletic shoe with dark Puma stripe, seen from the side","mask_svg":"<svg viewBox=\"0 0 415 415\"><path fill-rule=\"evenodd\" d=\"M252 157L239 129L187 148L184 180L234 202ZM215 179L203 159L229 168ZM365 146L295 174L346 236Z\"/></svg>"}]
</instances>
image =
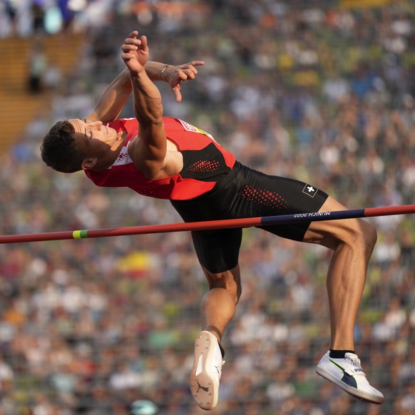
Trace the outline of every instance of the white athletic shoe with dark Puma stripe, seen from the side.
<instances>
[{"instance_id":1,"label":"white athletic shoe with dark Puma stripe, seen from the side","mask_svg":"<svg viewBox=\"0 0 415 415\"><path fill-rule=\"evenodd\" d=\"M330 352L324 354L317 364L317 374L337 384L357 399L371 404L381 404L384 401L384 395L369 384L356 354L346 353L344 359L334 359L329 357L329 354Z\"/></svg>"}]
</instances>

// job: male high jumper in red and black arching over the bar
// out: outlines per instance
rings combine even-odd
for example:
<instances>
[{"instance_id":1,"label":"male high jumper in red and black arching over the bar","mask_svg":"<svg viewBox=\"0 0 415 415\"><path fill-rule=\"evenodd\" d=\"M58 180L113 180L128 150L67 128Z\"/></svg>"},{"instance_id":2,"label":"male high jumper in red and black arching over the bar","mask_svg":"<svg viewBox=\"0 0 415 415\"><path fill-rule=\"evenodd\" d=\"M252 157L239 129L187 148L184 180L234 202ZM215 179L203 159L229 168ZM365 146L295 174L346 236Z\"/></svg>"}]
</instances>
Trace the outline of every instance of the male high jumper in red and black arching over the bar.
<instances>
[{"instance_id":1,"label":"male high jumper in red and black arching over the bar","mask_svg":"<svg viewBox=\"0 0 415 415\"><path fill-rule=\"evenodd\" d=\"M195 78L195 66L148 62L145 36L133 31L121 47L126 69L83 119L60 121L43 139L41 155L63 173L84 170L98 186L128 187L170 200L185 222L344 210L307 183L270 176L239 163L212 136L178 118L163 116L153 81L165 77L180 101L180 81ZM153 81L152 81L153 80ZM136 119L116 117L133 91ZM331 344L317 373L353 396L381 404L354 353L354 323L376 230L359 219L261 227L280 237L323 245L333 251L327 273ZM203 297L203 331L195 340L190 389L202 409L217 404L227 324L241 294L238 255L242 229L192 232L209 290Z\"/></svg>"}]
</instances>

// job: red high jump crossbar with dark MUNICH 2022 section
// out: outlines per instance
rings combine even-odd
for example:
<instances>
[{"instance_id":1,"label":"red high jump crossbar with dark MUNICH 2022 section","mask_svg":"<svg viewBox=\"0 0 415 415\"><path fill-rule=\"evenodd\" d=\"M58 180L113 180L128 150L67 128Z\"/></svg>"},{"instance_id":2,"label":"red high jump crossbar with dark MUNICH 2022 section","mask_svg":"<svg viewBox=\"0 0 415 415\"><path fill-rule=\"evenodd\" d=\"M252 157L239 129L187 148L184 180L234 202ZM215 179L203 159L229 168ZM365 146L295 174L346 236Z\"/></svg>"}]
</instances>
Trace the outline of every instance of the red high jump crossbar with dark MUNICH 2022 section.
<instances>
[{"instance_id":1,"label":"red high jump crossbar with dark MUNICH 2022 section","mask_svg":"<svg viewBox=\"0 0 415 415\"><path fill-rule=\"evenodd\" d=\"M205 222L170 223L167 225L143 225L129 227L110 227L103 229L63 230L60 232L41 232L20 235L0 235L0 244L18 242L40 242L52 240L85 239L94 237L145 235L150 233L185 232L192 230L225 229L230 227L252 227L282 225L296 222L317 222L324 220L353 219L415 213L415 205L369 207L366 209L332 210L325 212L295 213L292 215L246 217L242 219L208 220Z\"/></svg>"}]
</instances>

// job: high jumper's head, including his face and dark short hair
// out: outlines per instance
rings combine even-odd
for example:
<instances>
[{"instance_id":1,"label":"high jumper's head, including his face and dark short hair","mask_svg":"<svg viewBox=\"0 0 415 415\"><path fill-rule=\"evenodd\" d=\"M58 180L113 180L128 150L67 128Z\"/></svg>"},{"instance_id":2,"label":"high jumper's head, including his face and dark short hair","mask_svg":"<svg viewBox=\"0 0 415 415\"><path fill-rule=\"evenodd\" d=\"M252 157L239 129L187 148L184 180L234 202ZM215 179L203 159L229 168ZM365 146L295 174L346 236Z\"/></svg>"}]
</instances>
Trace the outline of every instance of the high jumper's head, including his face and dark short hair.
<instances>
[{"instance_id":1,"label":"high jumper's head, including his face and dark short hair","mask_svg":"<svg viewBox=\"0 0 415 415\"><path fill-rule=\"evenodd\" d=\"M53 125L43 138L41 157L62 173L103 170L116 160L122 144L122 133L102 121L74 118Z\"/></svg>"}]
</instances>

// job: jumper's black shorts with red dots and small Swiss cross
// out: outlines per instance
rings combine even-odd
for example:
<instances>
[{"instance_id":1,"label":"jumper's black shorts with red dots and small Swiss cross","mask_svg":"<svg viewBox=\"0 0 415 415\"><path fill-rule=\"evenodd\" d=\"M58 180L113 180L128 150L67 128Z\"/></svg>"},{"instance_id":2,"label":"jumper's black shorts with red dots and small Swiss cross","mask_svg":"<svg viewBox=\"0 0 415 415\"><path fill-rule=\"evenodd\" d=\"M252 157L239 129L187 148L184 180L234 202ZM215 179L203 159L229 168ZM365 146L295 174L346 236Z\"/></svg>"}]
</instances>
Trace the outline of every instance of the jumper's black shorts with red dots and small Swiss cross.
<instances>
[{"instance_id":1,"label":"jumper's black shorts with red dots and small Swiss cross","mask_svg":"<svg viewBox=\"0 0 415 415\"><path fill-rule=\"evenodd\" d=\"M185 222L318 212L327 193L299 180L266 175L235 163L215 188L191 200L171 200ZM310 222L258 226L280 237L302 241ZM200 263L210 272L237 265L242 228L192 232Z\"/></svg>"}]
</instances>

